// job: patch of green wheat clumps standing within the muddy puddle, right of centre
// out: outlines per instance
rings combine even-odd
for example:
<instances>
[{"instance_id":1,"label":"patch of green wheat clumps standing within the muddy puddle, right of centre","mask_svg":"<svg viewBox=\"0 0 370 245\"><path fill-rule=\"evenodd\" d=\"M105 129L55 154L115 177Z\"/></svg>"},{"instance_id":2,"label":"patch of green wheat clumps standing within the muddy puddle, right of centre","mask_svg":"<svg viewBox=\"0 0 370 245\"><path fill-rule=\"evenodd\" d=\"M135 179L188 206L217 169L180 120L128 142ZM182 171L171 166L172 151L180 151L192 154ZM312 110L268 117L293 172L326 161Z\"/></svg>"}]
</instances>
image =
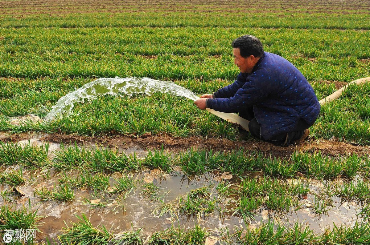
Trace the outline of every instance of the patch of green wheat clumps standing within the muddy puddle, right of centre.
<instances>
[{"instance_id":1,"label":"patch of green wheat clumps standing within the muddy puddle, right of centre","mask_svg":"<svg viewBox=\"0 0 370 245\"><path fill-rule=\"evenodd\" d=\"M245 221L253 218L256 210L266 207L270 211L287 212L290 208L298 210L300 200L309 192L308 184L300 182L292 185L277 179L261 178L242 180L238 185L220 182L216 193L211 192L210 186L204 186L181 195L176 200L162 201L153 213L161 218L165 214L171 217L179 215L195 215L206 217L216 210L232 215L240 215ZM157 199L158 200L158 199Z\"/></svg>"}]
</instances>

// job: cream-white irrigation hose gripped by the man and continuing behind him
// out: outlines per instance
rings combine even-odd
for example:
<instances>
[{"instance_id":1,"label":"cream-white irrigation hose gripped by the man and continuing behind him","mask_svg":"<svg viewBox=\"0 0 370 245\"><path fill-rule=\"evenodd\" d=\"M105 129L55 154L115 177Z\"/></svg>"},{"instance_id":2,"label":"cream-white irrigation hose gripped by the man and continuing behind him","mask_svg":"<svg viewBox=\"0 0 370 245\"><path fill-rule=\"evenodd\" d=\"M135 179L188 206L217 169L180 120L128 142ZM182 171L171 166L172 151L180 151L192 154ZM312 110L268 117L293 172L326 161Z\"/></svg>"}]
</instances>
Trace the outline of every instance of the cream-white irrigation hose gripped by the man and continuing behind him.
<instances>
[{"instance_id":1,"label":"cream-white irrigation hose gripped by the man and continuing behind him","mask_svg":"<svg viewBox=\"0 0 370 245\"><path fill-rule=\"evenodd\" d=\"M344 86L343 88L341 89L338 89L336 92L332 93L331 95L327 96L326 98L322 99L321 101L319 101L320 105L324 105L325 103L329 102L329 101L332 101L338 97L340 97L340 95L342 95L342 93L348 88L348 86L350 86L351 84L362 84L364 82L367 82L367 81L370 81L370 77L367 77L367 78L360 78L360 79L357 79L357 80L354 80L352 82L350 82L349 84L347 84L346 86ZM239 125L241 126L243 129L249 131L249 128L248 128L248 124L249 124L249 121L244 119L244 118L241 118L240 116L234 114L234 113L225 113L225 112L218 112L216 110L213 110L213 109L209 109L209 108L206 108L206 110L208 110L209 112L211 112L212 114L215 114L216 116L219 116L220 118L222 119L225 119L226 121L230 122L230 123L233 123L233 124L236 124L236 125Z\"/></svg>"}]
</instances>

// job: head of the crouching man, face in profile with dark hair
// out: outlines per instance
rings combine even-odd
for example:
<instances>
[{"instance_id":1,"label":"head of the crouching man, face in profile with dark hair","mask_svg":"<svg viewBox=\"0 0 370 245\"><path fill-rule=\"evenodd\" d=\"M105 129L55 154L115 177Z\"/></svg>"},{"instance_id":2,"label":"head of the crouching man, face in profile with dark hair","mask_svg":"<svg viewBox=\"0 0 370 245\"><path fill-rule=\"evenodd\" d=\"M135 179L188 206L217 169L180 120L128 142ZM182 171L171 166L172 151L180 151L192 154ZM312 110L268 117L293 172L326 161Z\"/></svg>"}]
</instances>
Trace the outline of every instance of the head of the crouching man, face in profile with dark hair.
<instances>
[{"instance_id":1,"label":"head of the crouching man, face in profile with dark hair","mask_svg":"<svg viewBox=\"0 0 370 245\"><path fill-rule=\"evenodd\" d=\"M242 73L251 73L253 67L263 54L263 46L258 38L244 35L236 38L232 43L234 64Z\"/></svg>"}]
</instances>

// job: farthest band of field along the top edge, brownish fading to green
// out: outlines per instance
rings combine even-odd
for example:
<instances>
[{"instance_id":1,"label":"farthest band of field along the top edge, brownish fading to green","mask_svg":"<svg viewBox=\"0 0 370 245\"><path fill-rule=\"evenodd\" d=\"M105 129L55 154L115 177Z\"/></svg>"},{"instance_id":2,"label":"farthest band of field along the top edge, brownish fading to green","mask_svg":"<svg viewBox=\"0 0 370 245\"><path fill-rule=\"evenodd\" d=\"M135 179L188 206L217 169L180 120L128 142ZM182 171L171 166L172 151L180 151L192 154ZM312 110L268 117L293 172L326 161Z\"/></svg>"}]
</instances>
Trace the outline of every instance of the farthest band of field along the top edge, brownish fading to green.
<instances>
[{"instance_id":1,"label":"farthest band of field along the top edge, brownish fading to green","mask_svg":"<svg viewBox=\"0 0 370 245\"><path fill-rule=\"evenodd\" d=\"M4 1L2 28L262 27L369 30L366 1ZM344 7L345 6L345 7Z\"/></svg>"}]
</instances>

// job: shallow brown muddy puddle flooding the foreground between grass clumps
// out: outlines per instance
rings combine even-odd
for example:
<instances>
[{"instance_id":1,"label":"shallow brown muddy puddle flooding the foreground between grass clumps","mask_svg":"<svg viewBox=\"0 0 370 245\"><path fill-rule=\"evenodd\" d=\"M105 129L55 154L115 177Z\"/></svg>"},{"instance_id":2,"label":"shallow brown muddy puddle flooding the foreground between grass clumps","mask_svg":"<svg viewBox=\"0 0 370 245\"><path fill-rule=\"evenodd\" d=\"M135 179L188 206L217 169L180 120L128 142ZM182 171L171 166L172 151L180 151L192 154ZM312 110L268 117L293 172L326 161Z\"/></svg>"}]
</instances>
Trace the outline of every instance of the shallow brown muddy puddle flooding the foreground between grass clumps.
<instances>
[{"instance_id":1,"label":"shallow brown muddy puddle flooding the foreground between grass clumps","mask_svg":"<svg viewBox=\"0 0 370 245\"><path fill-rule=\"evenodd\" d=\"M154 174L152 172L155 172ZM57 239L57 235L61 234L61 230L65 224L70 225L71 222L78 222L75 215L84 213L94 227L104 225L108 230L120 232L128 231L132 228L142 228L142 234L147 236L155 231L174 227L188 228L194 227L195 224L200 224L202 227L212 229L213 231L235 231L235 228L257 228L261 224L274 219L284 224L292 226L295 222L308 225L314 232L320 234L324 229L332 229L334 224L353 225L356 220L360 220L357 214L361 212L361 207L354 203L341 202L340 198L333 198L333 207L327 214L314 214L312 205L315 202L314 193L317 190L317 185L310 185L310 193L305 200L301 200L301 207L296 211L275 213L270 212L266 208L259 208L254 215L255 220L244 221L240 216L232 216L232 212L214 211L209 215L170 215L169 213L159 217L158 210L163 204L174 203L180 196L185 196L189 191L209 187L211 195L215 195L215 187L218 184L217 177L213 174L200 176L193 179L183 175L181 171L175 171L174 175L166 174L161 171L146 170L140 173L134 173L132 179L135 180L135 188L123 197L111 194L96 195L93 191L74 188L75 198L71 202L60 201L41 201L34 194L37 187L44 186L53 188L58 183L60 177L58 171L45 171L46 173L37 173L37 180L33 184L18 186L25 196L17 199L15 202L4 201L0 197L0 205L16 204L17 208L28 207L28 202L31 203L32 210L37 210L38 215L44 216L40 220L43 224L40 225L38 239L44 240L46 237ZM78 173L71 172L70 175L77 176ZM31 174L27 174L26 178ZM45 176L49 178L46 178ZM44 177L42 177L44 176ZM120 177L120 173L115 173L115 177ZM148 177L149 176L149 177ZM258 174L251 174L249 177L256 177ZM216 179L216 180L215 180ZM231 179L233 183L238 183L238 180ZM158 187L158 200L151 199L142 190L146 183L153 183ZM3 191L7 188L6 185L0 187ZM90 204L87 203L90 201ZM99 206L98 204L102 204ZM219 206L222 206L221 204ZM65 223L64 223L65 222Z\"/></svg>"}]
</instances>

